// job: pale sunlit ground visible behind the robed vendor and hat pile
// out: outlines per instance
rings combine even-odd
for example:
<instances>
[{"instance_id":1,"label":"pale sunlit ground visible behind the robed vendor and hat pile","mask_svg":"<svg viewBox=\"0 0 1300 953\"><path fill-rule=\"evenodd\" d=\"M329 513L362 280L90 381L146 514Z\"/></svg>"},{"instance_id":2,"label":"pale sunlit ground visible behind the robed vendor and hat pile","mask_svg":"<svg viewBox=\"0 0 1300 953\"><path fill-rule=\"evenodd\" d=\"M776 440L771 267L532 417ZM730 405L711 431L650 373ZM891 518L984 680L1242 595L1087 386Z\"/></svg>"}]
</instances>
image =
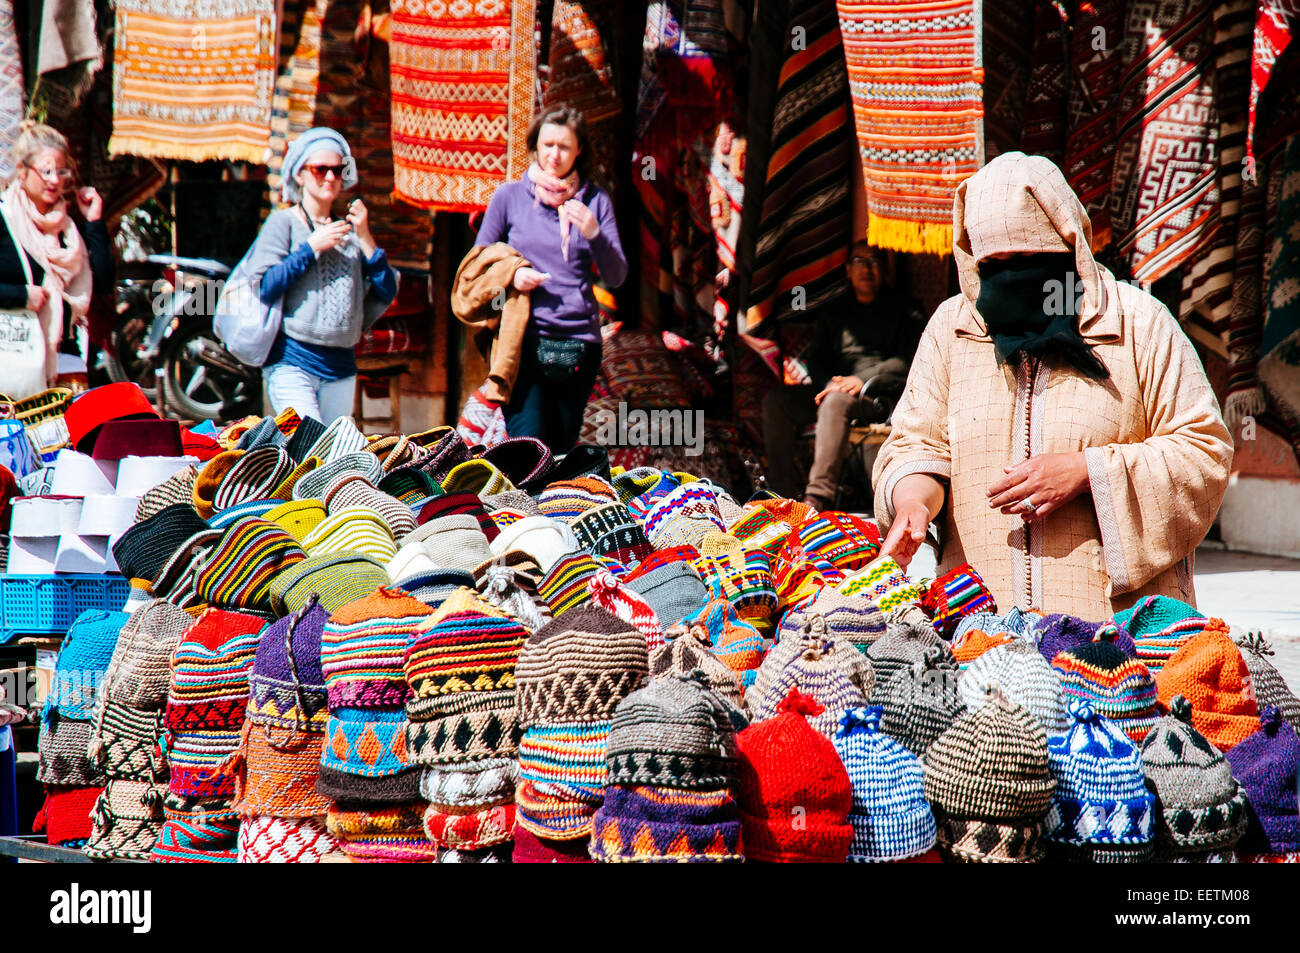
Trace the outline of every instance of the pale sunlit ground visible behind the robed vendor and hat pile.
<instances>
[{"instance_id":1,"label":"pale sunlit ground visible behind the robed vendor and hat pile","mask_svg":"<svg viewBox=\"0 0 1300 953\"><path fill-rule=\"evenodd\" d=\"M907 567L913 579L935 575L928 546ZM1196 553L1196 603L1239 632L1262 632L1291 689L1300 694L1300 559L1228 553L1205 545Z\"/></svg>"}]
</instances>

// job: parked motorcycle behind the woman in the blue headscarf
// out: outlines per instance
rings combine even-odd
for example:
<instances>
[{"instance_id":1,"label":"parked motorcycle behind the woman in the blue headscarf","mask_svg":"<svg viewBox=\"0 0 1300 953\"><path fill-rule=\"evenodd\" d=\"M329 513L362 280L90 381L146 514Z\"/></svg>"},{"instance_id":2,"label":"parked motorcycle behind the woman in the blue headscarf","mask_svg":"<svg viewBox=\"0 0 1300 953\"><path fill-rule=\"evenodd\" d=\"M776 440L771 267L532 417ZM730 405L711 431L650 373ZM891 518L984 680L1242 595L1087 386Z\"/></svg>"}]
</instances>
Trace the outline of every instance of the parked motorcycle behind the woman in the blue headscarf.
<instances>
[{"instance_id":1,"label":"parked motorcycle behind the woman in the blue headscarf","mask_svg":"<svg viewBox=\"0 0 1300 953\"><path fill-rule=\"evenodd\" d=\"M261 408L261 371L217 339L212 315L230 268L213 259L150 255L118 273L105 369L135 381L165 416L229 423Z\"/></svg>"}]
</instances>

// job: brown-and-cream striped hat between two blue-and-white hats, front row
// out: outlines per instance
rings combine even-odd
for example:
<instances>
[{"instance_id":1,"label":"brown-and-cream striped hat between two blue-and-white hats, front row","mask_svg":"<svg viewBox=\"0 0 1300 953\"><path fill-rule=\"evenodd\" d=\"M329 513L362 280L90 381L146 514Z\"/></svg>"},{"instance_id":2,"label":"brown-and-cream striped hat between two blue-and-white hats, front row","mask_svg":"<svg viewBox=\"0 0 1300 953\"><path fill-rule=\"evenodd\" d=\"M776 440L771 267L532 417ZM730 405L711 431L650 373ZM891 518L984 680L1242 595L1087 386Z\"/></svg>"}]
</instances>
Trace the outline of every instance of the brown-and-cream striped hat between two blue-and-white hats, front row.
<instances>
[{"instance_id":1,"label":"brown-and-cream striped hat between two blue-and-white hats, front row","mask_svg":"<svg viewBox=\"0 0 1300 953\"><path fill-rule=\"evenodd\" d=\"M1043 723L1001 693L957 719L926 753L939 845L957 861L1039 859L1053 790Z\"/></svg>"}]
</instances>

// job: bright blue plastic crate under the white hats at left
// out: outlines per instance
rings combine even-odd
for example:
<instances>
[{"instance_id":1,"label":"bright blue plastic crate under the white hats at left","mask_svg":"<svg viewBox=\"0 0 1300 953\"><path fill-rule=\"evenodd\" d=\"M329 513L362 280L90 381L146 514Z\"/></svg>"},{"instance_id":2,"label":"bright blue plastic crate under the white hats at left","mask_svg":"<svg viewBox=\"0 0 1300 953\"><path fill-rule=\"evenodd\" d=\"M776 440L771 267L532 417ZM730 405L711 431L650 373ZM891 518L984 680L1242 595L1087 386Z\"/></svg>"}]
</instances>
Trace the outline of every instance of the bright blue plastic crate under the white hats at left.
<instances>
[{"instance_id":1,"label":"bright blue plastic crate under the white hats at left","mask_svg":"<svg viewBox=\"0 0 1300 953\"><path fill-rule=\"evenodd\" d=\"M0 644L23 634L64 634L90 608L121 611L131 594L122 576L0 575Z\"/></svg>"}]
</instances>

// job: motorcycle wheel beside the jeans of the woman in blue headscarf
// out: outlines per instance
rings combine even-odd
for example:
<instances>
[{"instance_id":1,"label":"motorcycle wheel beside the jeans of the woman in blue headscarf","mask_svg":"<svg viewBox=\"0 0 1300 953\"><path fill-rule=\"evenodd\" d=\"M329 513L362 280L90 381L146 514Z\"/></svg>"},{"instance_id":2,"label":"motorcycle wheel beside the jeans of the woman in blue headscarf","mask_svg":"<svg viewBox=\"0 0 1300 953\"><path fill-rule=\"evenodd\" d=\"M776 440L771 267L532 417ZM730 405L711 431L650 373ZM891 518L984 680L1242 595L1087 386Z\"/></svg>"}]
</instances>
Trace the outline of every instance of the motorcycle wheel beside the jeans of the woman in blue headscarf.
<instances>
[{"instance_id":1,"label":"motorcycle wheel beside the jeans of the woman in blue headscarf","mask_svg":"<svg viewBox=\"0 0 1300 953\"><path fill-rule=\"evenodd\" d=\"M162 346L162 400L185 420L228 424L261 410L261 372L234 358L212 330L195 320Z\"/></svg>"}]
</instances>

